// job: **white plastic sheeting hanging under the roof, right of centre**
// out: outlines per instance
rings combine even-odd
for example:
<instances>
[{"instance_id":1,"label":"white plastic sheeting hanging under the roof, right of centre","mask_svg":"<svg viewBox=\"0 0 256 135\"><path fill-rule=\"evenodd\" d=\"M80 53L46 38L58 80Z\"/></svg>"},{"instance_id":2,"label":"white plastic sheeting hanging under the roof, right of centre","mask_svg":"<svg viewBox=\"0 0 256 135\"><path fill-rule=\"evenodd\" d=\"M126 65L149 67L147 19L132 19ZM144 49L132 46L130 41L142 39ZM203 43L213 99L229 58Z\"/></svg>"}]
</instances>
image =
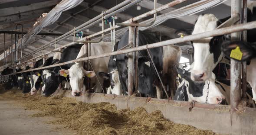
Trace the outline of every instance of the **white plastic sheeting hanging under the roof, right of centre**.
<instances>
[{"instance_id":1,"label":"white plastic sheeting hanging under the roof, right of centre","mask_svg":"<svg viewBox=\"0 0 256 135\"><path fill-rule=\"evenodd\" d=\"M177 10L173 10L171 12L168 13L164 13L160 16L157 16L156 21L154 22L153 25L148 26L148 27L139 27L139 30L146 30L146 29L150 29L154 26L158 26L161 23L164 23L165 21L167 21L168 19L173 19L173 18L179 18L179 17L184 17L184 16L190 16L190 15L194 15L196 13L202 12L204 10L210 9L214 6L218 6L221 3L225 2L226 0L200 0L196 3L192 3L190 5L184 6L180 9ZM143 21L141 23L149 23L153 20L152 19L148 19L146 21ZM115 37L121 37L122 35L125 34L125 32L128 30L129 28L126 27L124 29L119 29L117 31L115 31ZM111 40L111 36L109 34L105 35L104 37L104 41L110 41Z\"/></svg>"}]
</instances>

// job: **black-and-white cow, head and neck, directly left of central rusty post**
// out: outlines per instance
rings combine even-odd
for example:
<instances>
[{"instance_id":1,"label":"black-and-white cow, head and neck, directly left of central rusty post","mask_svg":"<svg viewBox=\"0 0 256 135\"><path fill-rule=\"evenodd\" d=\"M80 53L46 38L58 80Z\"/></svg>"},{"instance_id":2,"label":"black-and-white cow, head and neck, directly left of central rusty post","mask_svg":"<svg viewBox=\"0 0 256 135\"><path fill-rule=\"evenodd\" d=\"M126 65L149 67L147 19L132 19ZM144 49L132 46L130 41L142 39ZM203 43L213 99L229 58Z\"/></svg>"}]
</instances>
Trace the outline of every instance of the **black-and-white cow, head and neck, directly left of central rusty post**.
<instances>
[{"instance_id":1,"label":"black-and-white cow, head and neck, directly left of central rusty post","mask_svg":"<svg viewBox=\"0 0 256 135\"><path fill-rule=\"evenodd\" d=\"M117 51L118 43L119 42L115 43L113 51ZM109 58L108 72L99 72L98 75L105 79L103 85L108 88L108 94L122 94L122 87L116 65L116 55L110 56Z\"/></svg>"}]
</instances>

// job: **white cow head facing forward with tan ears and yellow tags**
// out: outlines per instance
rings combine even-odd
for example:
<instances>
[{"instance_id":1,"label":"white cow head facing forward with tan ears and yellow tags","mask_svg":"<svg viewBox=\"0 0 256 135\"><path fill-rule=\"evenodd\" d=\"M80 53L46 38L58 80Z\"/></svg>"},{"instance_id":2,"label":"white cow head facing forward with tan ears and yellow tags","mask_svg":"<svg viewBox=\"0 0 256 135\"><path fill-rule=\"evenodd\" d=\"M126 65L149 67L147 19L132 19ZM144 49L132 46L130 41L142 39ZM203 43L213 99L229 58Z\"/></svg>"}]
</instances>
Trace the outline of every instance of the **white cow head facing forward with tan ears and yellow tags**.
<instances>
[{"instance_id":1,"label":"white cow head facing forward with tan ears and yellow tags","mask_svg":"<svg viewBox=\"0 0 256 135\"><path fill-rule=\"evenodd\" d=\"M73 96L81 96L84 77L94 77L93 71L86 71L79 63L73 64L68 70L62 69L59 74L63 77L68 77L72 88Z\"/></svg>"}]
</instances>

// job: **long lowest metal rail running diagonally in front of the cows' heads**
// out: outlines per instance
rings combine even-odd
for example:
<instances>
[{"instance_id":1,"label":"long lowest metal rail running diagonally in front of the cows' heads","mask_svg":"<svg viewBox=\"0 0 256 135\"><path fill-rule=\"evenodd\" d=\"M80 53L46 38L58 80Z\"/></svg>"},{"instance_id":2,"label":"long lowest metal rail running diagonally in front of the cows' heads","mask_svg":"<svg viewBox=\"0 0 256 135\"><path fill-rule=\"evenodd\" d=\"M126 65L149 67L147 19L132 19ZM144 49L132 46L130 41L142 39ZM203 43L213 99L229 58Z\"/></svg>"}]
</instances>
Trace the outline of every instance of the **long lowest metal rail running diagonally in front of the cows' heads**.
<instances>
[{"instance_id":1,"label":"long lowest metal rail running diagonally in front of the cows' heads","mask_svg":"<svg viewBox=\"0 0 256 135\"><path fill-rule=\"evenodd\" d=\"M256 28L256 21L253 21L250 23L239 24L239 25L235 25L235 26L230 26L230 27L226 27L226 28L222 28L222 29L215 29L212 31L198 33L198 34L194 34L194 35L187 35L182 38L171 39L171 40L166 40L166 41L162 41L162 42L149 44L148 48L157 48L157 47L162 47L162 46L166 46L166 45L173 45L173 44L177 44L177 43L181 43L181 42L199 40L199 39L204 39L204 38L213 37L213 36L217 36L217 35L224 35L224 34L229 34L229 33L233 33L233 32L240 32L243 30L255 29L255 28ZM67 61L67 62L63 62L63 63L59 63L59 64L46 66L46 67L30 69L27 71L34 71L34 70L46 69L46 68L50 68L50 67L57 67L57 66L65 65L65 64L78 62L78 61L86 61L86 60L90 60L90 59L103 58L103 57L108 57L108 56L112 56L112 55L126 54L129 52L141 51L141 50L145 50L145 49L147 49L147 45L142 45L142 46L135 47L135 48L129 48L129 49L124 49L124 50L120 50L120 51L113 51L113 52L109 52L109 53L105 53L105 54L101 54L101 55L93 55L93 56L89 56L89 57L85 57L85 58L79 58L79 59L75 59L72 61ZM27 72L27 71L17 72L17 73L13 73L13 74L23 73L23 72ZM11 74L9 74L9 75L11 75Z\"/></svg>"}]
</instances>

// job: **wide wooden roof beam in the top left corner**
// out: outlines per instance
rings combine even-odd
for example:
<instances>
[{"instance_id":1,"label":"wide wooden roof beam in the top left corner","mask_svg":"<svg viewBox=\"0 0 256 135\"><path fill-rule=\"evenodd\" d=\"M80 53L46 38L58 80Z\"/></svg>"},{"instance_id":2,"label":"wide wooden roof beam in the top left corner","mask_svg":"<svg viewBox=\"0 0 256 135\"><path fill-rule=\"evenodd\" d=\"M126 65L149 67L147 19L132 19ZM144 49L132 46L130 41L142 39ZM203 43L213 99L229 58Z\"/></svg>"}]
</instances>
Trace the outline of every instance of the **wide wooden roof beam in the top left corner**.
<instances>
[{"instance_id":1,"label":"wide wooden roof beam in the top left corner","mask_svg":"<svg viewBox=\"0 0 256 135\"><path fill-rule=\"evenodd\" d=\"M28 11L39 10L46 7L54 6L59 3L60 0L50 0L45 2L33 3L27 6L15 6L0 9L0 16L10 16L15 14L20 14Z\"/></svg>"}]
</instances>

